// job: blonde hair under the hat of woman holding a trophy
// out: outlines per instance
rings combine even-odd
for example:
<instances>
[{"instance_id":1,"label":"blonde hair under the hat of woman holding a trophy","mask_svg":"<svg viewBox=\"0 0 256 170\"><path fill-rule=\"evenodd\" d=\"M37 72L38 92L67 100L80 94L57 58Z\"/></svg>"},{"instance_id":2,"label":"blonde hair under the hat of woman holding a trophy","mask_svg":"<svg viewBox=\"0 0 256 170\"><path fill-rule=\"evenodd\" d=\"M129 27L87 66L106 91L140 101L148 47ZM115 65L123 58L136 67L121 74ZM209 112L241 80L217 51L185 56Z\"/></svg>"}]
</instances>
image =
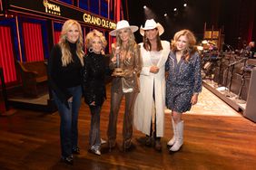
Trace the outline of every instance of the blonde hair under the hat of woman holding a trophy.
<instances>
[{"instance_id":1,"label":"blonde hair under the hat of woman holding a trophy","mask_svg":"<svg viewBox=\"0 0 256 170\"><path fill-rule=\"evenodd\" d=\"M135 37L134 34L132 32L132 30L130 28L124 28L124 31L127 31L129 33L129 38L128 38L128 43L126 45L126 47L124 47L125 49L123 49L123 41L120 37L120 31L117 31L116 33L116 47L121 47L121 49L127 51L127 52L134 52L134 49L137 46L137 42L135 42Z\"/></svg>"}]
</instances>

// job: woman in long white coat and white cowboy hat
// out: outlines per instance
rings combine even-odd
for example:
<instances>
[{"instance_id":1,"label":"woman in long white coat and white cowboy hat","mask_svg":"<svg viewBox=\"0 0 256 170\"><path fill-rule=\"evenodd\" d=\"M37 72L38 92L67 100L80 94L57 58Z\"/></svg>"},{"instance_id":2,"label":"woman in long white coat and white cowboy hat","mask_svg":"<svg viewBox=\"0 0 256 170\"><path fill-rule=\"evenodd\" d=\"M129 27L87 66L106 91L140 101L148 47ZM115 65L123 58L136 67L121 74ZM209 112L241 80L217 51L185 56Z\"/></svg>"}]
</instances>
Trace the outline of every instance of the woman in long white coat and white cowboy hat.
<instances>
[{"instance_id":1,"label":"woman in long white coat and white cowboy hat","mask_svg":"<svg viewBox=\"0 0 256 170\"><path fill-rule=\"evenodd\" d=\"M137 140L145 146L154 146L157 151L162 150L160 139L163 136L165 108L164 65L170 52L170 42L160 39L163 32L162 25L153 19L147 20L144 27L141 26L143 70L140 75L141 91L134 105L134 126L146 135Z\"/></svg>"}]
</instances>

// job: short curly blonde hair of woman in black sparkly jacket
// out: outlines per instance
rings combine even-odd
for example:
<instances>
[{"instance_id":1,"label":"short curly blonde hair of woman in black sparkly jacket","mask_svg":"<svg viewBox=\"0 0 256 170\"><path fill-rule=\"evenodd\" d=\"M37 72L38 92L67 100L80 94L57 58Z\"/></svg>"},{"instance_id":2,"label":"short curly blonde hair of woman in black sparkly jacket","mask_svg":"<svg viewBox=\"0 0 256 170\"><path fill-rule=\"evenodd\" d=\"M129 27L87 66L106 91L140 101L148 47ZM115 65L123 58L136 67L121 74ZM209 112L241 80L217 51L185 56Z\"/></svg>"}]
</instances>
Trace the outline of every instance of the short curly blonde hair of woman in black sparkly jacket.
<instances>
[{"instance_id":1,"label":"short curly blonde hair of woman in black sparkly jacket","mask_svg":"<svg viewBox=\"0 0 256 170\"><path fill-rule=\"evenodd\" d=\"M92 41L94 39L94 37L99 37L102 44L103 44L103 49L106 47L107 45L107 41L105 39L105 37L103 36L103 33L97 31L97 30L93 30L90 33L87 33L86 37L85 37L85 46L87 49L90 49L92 47Z\"/></svg>"}]
</instances>

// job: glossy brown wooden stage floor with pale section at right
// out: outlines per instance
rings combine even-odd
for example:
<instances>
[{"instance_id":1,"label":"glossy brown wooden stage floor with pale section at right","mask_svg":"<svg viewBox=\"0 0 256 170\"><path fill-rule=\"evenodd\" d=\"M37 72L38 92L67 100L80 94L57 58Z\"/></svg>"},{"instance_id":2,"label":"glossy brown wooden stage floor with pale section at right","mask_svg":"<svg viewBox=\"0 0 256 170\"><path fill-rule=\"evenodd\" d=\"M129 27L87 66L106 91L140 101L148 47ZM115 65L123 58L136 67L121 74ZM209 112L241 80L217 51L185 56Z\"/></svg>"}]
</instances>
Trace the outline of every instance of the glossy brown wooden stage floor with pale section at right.
<instances>
[{"instance_id":1,"label":"glossy brown wooden stage floor with pale section at right","mask_svg":"<svg viewBox=\"0 0 256 170\"><path fill-rule=\"evenodd\" d=\"M110 107L110 88L101 116L101 133L106 139ZM59 116L26 109L15 115L0 117L0 169L238 169L256 166L256 124L243 118L209 90L203 89L200 102L183 115L184 144L170 155L166 143L172 136L171 116L166 113L162 153L140 146L135 137L143 134L134 129L136 148L129 153L114 150L94 156L87 152L90 113L82 104L79 116L81 155L74 165L60 162ZM123 102L118 119L117 143L122 143ZM120 146L120 145L119 145Z\"/></svg>"}]
</instances>

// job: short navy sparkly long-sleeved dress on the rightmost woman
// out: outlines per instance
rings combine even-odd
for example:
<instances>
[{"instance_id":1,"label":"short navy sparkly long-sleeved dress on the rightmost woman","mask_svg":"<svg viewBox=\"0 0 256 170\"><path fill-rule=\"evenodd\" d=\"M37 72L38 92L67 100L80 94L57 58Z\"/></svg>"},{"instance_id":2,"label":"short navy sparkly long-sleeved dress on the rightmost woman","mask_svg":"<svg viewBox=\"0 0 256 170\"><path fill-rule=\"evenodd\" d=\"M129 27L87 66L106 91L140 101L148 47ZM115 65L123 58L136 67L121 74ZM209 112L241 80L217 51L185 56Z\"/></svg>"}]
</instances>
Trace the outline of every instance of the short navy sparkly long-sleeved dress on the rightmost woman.
<instances>
[{"instance_id":1,"label":"short navy sparkly long-sleeved dress on the rightmost woman","mask_svg":"<svg viewBox=\"0 0 256 170\"><path fill-rule=\"evenodd\" d=\"M200 56L192 54L190 61L176 60L175 53L170 52L165 64L168 71L166 80L166 106L177 112L192 108L192 95L202 91Z\"/></svg>"}]
</instances>

